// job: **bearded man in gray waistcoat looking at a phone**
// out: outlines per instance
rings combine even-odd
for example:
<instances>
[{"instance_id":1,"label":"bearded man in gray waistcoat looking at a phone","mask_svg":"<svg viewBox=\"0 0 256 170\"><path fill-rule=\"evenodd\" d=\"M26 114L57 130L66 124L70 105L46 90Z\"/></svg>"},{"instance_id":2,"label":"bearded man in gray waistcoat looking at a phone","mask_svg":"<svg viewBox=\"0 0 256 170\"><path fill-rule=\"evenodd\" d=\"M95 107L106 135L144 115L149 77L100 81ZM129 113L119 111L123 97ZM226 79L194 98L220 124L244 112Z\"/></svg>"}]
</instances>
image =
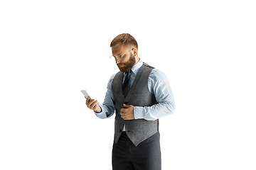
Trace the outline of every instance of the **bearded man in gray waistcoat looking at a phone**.
<instances>
[{"instance_id":1,"label":"bearded man in gray waistcoat looking at a phone","mask_svg":"<svg viewBox=\"0 0 256 170\"><path fill-rule=\"evenodd\" d=\"M139 59L137 41L123 33L112 40L120 72L110 77L102 105L86 100L99 118L114 121L114 170L160 170L159 118L174 113L174 96L165 74Z\"/></svg>"}]
</instances>

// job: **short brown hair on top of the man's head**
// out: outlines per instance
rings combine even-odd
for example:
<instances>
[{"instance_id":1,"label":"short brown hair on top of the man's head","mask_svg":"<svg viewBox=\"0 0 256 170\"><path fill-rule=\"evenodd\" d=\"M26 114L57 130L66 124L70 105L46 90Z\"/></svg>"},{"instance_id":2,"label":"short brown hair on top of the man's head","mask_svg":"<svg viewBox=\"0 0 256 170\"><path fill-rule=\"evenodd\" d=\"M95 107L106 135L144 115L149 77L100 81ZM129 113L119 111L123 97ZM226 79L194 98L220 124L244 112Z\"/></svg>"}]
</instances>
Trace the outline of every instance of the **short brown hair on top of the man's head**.
<instances>
[{"instance_id":1,"label":"short brown hair on top of the man's head","mask_svg":"<svg viewBox=\"0 0 256 170\"><path fill-rule=\"evenodd\" d=\"M138 49L137 41L132 35L129 35L129 33L122 33L120 35L117 35L117 37L114 38L110 43L110 47L114 47L118 44L134 45Z\"/></svg>"}]
</instances>

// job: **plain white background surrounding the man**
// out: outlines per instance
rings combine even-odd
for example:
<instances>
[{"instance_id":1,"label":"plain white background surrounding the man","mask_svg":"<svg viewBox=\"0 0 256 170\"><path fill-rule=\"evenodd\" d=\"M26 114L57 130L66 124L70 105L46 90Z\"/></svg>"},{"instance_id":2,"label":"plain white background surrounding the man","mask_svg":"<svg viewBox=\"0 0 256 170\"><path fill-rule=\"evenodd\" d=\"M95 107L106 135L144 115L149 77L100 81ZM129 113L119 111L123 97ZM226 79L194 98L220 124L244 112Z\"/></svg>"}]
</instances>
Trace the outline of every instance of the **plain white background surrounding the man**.
<instances>
[{"instance_id":1,"label":"plain white background surrounding the man","mask_svg":"<svg viewBox=\"0 0 256 170\"><path fill-rule=\"evenodd\" d=\"M168 77L162 169L256 169L253 1L1 1L0 169L112 169L114 116L101 103L118 71L110 42L134 35Z\"/></svg>"}]
</instances>

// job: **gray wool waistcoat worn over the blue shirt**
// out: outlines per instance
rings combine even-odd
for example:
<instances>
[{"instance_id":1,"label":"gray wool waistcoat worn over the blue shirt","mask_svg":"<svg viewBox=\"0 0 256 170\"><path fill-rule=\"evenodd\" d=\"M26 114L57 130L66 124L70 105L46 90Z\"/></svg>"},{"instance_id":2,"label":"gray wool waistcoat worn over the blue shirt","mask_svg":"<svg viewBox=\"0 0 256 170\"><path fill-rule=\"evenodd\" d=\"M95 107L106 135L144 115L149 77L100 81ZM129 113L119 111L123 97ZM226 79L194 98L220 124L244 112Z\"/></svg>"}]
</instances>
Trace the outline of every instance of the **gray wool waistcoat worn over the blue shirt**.
<instances>
[{"instance_id":1,"label":"gray wool waistcoat worn over the blue shirt","mask_svg":"<svg viewBox=\"0 0 256 170\"><path fill-rule=\"evenodd\" d=\"M132 106L152 106L156 104L156 97L151 94L148 87L149 74L154 67L143 63L141 69L137 73L137 77L129 89L127 97L122 94L123 73L118 72L112 81L112 91L114 95L114 108L116 109L116 117L114 120L114 142L117 143L122 130L124 128L127 136L135 146L140 142L158 132L159 120L149 121L144 119L124 120L121 118L120 110L124 108L124 104Z\"/></svg>"}]
</instances>

